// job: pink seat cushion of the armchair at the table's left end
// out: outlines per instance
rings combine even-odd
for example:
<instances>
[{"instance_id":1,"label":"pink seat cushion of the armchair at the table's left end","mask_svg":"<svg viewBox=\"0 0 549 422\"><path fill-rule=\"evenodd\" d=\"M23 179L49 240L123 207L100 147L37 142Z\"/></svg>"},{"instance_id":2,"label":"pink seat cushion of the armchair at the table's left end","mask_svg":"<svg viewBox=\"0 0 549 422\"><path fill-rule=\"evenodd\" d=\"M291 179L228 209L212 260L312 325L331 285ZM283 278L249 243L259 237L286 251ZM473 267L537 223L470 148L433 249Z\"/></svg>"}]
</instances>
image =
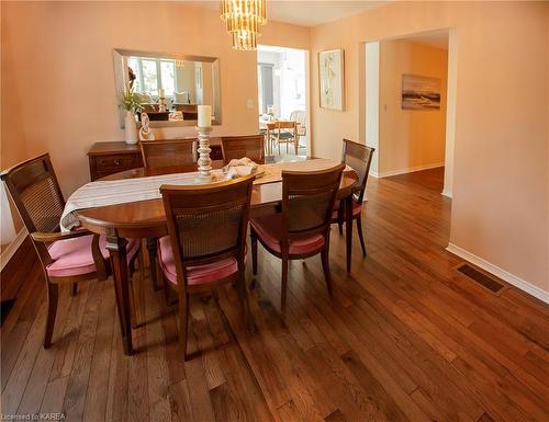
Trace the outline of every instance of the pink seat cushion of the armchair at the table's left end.
<instances>
[{"instance_id":1,"label":"pink seat cushion of the armchair at the table's left end","mask_svg":"<svg viewBox=\"0 0 549 422\"><path fill-rule=\"evenodd\" d=\"M74 275L83 275L96 272L96 263L91 253L91 241L93 235L79 238L58 240L48 248L49 255L55 261L47 267L47 275L53 277L68 277ZM105 238L99 238L99 249L104 259L109 258L109 251L105 248ZM128 239L127 258L133 259L139 248L139 240Z\"/></svg>"}]
</instances>

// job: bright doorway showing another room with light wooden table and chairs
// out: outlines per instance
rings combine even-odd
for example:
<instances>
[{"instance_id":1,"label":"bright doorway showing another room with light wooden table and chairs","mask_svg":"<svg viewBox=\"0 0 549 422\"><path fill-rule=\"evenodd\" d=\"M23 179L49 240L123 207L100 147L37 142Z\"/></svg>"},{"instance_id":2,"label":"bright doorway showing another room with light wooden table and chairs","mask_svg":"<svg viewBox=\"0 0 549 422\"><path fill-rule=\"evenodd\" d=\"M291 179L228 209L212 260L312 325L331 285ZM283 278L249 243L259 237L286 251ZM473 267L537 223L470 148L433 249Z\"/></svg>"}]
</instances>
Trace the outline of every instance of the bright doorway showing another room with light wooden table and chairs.
<instances>
[{"instance_id":1,"label":"bright doorway showing another room with light wooden table and chairs","mask_svg":"<svg viewBox=\"0 0 549 422\"><path fill-rule=\"evenodd\" d=\"M310 151L307 54L257 47L259 130L266 136L267 152L283 159L306 157Z\"/></svg>"}]
</instances>

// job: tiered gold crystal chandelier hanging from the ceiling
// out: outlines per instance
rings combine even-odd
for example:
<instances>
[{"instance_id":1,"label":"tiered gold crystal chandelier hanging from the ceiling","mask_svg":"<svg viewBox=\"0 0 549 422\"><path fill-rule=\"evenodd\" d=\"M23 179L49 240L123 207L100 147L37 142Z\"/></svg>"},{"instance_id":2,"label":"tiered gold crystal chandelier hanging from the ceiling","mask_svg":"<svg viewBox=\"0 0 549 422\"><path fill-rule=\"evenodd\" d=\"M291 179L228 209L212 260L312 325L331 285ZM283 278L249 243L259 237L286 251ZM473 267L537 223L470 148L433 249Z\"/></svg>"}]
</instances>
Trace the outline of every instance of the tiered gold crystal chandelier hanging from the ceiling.
<instances>
[{"instance_id":1,"label":"tiered gold crystal chandelier hanging from the ceiling","mask_svg":"<svg viewBox=\"0 0 549 422\"><path fill-rule=\"evenodd\" d=\"M256 49L259 27L267 23L266 0L222 0L221 19L233 36L234 49Z\"/></svg>"}]
</instances>

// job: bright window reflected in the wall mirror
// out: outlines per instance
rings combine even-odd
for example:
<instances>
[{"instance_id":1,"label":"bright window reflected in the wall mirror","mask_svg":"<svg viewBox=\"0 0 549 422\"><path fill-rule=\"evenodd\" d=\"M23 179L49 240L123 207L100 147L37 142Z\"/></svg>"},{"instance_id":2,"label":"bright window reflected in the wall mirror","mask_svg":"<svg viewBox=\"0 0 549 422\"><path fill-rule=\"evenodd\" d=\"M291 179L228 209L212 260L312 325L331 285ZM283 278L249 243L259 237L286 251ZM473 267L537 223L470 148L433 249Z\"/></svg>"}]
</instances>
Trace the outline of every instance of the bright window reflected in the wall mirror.
<instances>
[{"instance_id":1,"label":"bright window reflected in the wall mirror","mask_svg":"<svg viewBox=\"0 0 549 422\"><path fill-rule=\"evenodd\" d=\"M176 61L147 57L130 57L127 66L135 73L135 92L158 96L164 88L166 96L176 92Z\"/></svg>"}]
</instances>

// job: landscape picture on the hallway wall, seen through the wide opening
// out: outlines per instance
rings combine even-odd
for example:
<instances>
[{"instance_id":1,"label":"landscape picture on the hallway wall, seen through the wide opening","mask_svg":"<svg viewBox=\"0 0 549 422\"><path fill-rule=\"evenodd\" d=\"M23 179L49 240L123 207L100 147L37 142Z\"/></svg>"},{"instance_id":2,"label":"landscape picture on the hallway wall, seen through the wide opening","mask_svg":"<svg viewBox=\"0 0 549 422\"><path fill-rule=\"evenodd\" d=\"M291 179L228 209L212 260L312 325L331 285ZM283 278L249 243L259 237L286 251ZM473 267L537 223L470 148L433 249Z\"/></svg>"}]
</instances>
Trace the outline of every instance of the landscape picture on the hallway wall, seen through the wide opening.
<instances>
[{"instance_id":1,"label":"landscape picture on the hallway wall, seen through the wide opening","mask_svg":"<svg viewBox=\"0 0 549 422\"><path fill-rule=\"evenodd\" d=\"M440 79L403 75L402 110L440 110Z\"/></svg>"}]
</instances>

